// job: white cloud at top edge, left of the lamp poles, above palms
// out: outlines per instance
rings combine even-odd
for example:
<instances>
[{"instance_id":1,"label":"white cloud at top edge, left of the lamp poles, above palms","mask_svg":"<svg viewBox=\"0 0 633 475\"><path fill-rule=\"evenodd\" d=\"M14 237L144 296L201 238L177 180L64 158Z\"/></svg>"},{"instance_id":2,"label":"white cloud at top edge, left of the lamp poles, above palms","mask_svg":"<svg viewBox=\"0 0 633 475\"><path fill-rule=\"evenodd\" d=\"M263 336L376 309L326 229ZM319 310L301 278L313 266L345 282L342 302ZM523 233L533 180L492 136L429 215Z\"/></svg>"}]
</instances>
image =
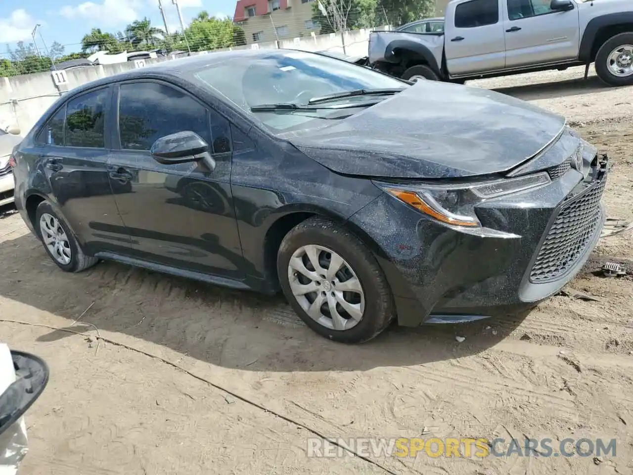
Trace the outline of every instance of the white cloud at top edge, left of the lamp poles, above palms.
<instances>
[{"instance_id":1,"label":"white cloud at top edge, left of the lamp poles, above palms","mask_svg":"<svg viewBox=\"0 0 633 475\"><path fill-rule=\"evenodd\" d=\"M90 26L112 27L142 18L138 12L141 6L139 0L103 0L101 3L87 1L77 6L63 6L60 15L69 20L87 20Z\"/></svg>"}]
</instances>

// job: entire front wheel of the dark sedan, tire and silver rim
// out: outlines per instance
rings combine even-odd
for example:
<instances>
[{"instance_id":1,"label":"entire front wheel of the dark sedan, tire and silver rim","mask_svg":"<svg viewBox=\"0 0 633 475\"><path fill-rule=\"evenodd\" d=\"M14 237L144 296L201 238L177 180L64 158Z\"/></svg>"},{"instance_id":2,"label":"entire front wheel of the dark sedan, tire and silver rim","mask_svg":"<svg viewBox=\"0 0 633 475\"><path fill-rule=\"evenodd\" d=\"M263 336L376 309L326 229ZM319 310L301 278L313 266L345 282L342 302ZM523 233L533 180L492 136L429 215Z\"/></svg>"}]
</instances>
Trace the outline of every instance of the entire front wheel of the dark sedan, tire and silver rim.
<instances>
[{"instance_id":1,"label":"entire front wheel of the dark sedan, tire and silver rim","mask_svg":"<svg viewBox=\"0 0 633 475\"><path fill-rule=\"evenodd\" d=\"M395 316L391 289L370 250L329 220L294 227L279 248L277 272L291 307L325 338L362 343Z\"/></svg>"}]
</instances>

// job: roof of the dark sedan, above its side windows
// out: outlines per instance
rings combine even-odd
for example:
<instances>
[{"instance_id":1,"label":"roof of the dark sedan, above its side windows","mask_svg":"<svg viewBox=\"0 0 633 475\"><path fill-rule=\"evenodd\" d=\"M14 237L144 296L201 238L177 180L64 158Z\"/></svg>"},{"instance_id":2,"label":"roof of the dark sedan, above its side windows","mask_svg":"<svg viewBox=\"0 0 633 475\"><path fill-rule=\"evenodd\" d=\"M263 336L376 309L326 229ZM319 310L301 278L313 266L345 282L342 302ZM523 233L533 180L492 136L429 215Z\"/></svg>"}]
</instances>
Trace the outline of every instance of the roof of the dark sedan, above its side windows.
<instances>
[{"instance_id":1,"label":"roof of the dark sedan, above its side windows","mask_svg":"<svg viewBox=\"0 0 633 475\"><path fill-rule=\"evenodd\" d=\"M216 51L213 53L197 54L196 56L188 56L186 58L177 58L175 60L160 61L144 68L136 68L133 70L117 73L111 76L97 79L92 82L80 85L72 91L64 94L64 98L75 96L83 91L94 89L102 85L113 84L120 81L128 81L134 79L170 79L181 78L182 75L194 73L206 66L220 63L234 58L262 58L275 53L290 53L291 51L299 51L295 49L241 49L237 51ZM301 53L311 53L310 51L301 51ZM318 53L312 53L318 54Z\"/></svg>"}]
</instances>

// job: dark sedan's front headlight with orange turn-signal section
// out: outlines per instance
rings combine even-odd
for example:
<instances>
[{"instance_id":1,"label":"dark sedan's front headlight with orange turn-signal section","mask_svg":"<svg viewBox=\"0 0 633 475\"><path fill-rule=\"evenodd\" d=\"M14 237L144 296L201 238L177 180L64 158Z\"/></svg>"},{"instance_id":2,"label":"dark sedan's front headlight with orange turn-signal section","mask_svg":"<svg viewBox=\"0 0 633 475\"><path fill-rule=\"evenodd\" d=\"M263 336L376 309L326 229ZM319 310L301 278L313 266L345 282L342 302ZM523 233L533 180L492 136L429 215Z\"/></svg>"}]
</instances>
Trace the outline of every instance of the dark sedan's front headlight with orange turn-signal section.
<instances>
[{"instance_id":1,"label":"dark sedan's front headlight with orange turn-signal section","mask_svg":"<svg viewBox=\"0 0 633 475\"><path fill-rule=\"evenodd\" d=\"M398 200L444 224L481 227L475 206L492 198L520 193L549 184L546 172L524 177L468 184L402 185L374 181Z\"/></svg>"}]
</instances>

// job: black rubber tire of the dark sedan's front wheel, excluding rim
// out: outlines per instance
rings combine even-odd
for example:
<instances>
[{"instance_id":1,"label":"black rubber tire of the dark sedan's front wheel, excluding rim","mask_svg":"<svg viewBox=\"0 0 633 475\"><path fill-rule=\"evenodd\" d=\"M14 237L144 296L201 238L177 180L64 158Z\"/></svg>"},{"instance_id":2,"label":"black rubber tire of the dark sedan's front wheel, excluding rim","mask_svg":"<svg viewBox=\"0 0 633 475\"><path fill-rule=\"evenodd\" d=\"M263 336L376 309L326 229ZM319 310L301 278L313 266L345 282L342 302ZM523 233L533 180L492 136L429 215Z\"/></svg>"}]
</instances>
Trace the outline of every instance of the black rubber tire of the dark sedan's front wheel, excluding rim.
<instances>
[{"instance_id":1,"label":"black rubber tire of the dark sedan's front wheel, excluding rim","mask_svg":"<svg viewBox=\"0 0 633 475\"><path fill-rule=\"evenodd\" d=\"M292 295L288 265L292 254L308 244L338 253L358 277L365 295L365 309L356 326L346 330L325 327L313 320ZM282 291L293 310L308 327L325 338L340 343L363 343L381 333L396 316L391 289L370 250L351 232L330 220L314 217L296 225L279 247L277 272Z\"/></svg>"}]
</instances>

